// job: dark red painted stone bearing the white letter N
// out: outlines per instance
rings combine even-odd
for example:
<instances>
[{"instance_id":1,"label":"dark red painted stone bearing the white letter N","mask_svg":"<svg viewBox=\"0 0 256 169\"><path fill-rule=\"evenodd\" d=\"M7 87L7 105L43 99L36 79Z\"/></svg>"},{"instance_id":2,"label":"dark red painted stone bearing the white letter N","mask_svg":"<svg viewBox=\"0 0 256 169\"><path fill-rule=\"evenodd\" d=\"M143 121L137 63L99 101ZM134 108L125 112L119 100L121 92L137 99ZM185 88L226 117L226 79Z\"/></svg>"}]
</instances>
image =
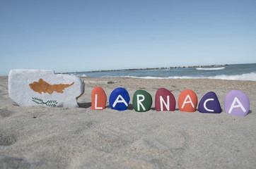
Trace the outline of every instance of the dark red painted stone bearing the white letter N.
<instances>
[{"instance_id":1,"label":"dark red painted stone bearing the white letter N","mask_svg":"<svg viewBox=\"0 0 256 169\"><path fill-rule=\"evenodd\" d=\"M176 100L168 89L158 89L155 96L156 111L175 111Z\"/></svg>"}]
</instances>

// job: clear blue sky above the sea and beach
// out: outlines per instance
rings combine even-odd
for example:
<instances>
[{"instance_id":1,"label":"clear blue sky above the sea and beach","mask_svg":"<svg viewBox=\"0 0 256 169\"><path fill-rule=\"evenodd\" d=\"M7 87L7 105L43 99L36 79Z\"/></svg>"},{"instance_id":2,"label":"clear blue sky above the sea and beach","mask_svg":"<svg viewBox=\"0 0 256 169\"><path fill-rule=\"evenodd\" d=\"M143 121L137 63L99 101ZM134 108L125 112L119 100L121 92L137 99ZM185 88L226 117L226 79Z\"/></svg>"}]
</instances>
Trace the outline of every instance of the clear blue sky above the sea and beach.
<instances>
[{"instance_id":1,"label":"clear blue sky above the sea and beach","mask_svg":"<svg viewBox=\"0 0 256 169\"><path fill-rule=\"evenodd\" d=\"M256 63L255 9L255 0L0 0L0 75Z\"/></svg>"}]
</instances>

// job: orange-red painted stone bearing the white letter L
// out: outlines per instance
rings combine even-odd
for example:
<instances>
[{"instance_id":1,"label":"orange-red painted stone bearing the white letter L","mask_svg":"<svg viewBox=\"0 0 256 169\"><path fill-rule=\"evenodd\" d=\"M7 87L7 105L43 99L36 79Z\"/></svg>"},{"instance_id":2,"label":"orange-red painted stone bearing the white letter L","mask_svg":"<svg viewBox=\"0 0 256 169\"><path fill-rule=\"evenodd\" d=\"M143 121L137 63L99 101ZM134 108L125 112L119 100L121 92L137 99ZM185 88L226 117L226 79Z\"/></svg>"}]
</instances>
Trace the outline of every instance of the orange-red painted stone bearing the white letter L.
<instances>
[{"instance_id":1,"label":"orange-red painted stone bearing the white letter L","mask_svg":"<svg viewBox=\"0 0 256 169\"><path fill-rule=\"evenodd\" d=\"M101 87L94 87L91 91L91 109L102 111L106 107L107 96Z\"/></svg>"}]
</instances>

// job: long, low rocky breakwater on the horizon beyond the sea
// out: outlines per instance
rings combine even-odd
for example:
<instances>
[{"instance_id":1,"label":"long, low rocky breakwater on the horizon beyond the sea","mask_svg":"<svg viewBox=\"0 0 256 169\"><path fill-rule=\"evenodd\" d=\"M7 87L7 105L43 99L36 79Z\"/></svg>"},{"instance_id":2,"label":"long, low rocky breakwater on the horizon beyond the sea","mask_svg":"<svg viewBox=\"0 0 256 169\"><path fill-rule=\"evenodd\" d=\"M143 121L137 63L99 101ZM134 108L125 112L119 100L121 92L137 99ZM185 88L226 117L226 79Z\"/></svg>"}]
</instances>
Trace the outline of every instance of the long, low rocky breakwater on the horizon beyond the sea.
<instances>
[{"instance_id":1,"label":"long, low rocky breakwater on the horizon beyond the sea","mask_svg":"<svg viewBox=\"0 0 256 169\"><path fill-rule=\"evenodd\" d=\"M219 66L226 66L228 64L221 64L221 65L187 65L187 66L171 66L171 67L161 67L161 68L132 68L132 69L116 69L116 70L92 70L88 71L90 73L94 72L115 72L115 71L122 71L122 70L156 70L156 69L171 69L171 68L205 68L205 67L219 67Z\"/></svg>"}]
</instances>

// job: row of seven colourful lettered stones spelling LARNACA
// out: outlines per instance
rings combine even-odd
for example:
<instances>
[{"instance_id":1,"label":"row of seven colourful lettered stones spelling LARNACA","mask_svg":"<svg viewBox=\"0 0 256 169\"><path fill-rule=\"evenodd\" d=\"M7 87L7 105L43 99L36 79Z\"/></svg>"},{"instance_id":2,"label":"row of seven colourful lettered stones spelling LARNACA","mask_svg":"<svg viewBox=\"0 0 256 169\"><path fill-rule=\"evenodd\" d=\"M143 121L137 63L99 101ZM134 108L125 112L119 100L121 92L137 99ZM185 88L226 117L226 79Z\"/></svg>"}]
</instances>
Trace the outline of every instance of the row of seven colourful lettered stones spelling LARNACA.
<instances>
[{"instance_id":1,"label":"row of seven colourful lettered stones spelling LARNACA","mask_svg":"<svg viewBox=\"0 0 256 169\"><path fill-rule=\"evenodd\" d=\"M104 110L106 106L107 96L104 89L94 87L91 92L91 109ZM110 94L110 107L117 111L127 110L129 106L129 93L126 89L119 87L114 89ZM152 106L152 96L149 92L142 89L134 93L132 105L135 111L149 111ZM155 95L156 111L175 111L176 100L172 92L168 89L158 89ZM194 112L197 110L197 94L190 89L186 89L180 93L178 97L178 107L180 111ZM226 113L238 116L245 116L250 110L250 101L248 96L239 90L232 90L226 94L224 100L224 109ZM198 104L200 113L221 113L221 104L214 92L206 93Z\"/></svg>"}]
</instances>

